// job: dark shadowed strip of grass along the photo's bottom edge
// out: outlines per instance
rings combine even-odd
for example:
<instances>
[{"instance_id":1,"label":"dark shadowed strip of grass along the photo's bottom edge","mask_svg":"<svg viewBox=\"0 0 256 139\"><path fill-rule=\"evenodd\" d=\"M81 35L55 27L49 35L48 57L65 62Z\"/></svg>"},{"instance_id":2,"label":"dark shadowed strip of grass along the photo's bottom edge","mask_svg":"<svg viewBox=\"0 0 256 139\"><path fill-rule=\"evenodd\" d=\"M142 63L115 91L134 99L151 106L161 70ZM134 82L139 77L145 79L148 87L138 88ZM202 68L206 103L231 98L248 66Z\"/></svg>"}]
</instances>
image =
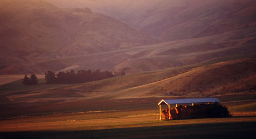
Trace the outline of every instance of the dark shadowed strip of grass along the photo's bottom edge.
<instances>
[{"instance_id":1,"label":"dark shadowed strip of grass along the photo's bottom edge","mask_svg":"<svg viewBox=\"0 0 256 139\"><path fill-rule=\"evenodd\" d=\"M0 133L2 138L255 138L255 122Z\"/></svg>"}]
</instances>

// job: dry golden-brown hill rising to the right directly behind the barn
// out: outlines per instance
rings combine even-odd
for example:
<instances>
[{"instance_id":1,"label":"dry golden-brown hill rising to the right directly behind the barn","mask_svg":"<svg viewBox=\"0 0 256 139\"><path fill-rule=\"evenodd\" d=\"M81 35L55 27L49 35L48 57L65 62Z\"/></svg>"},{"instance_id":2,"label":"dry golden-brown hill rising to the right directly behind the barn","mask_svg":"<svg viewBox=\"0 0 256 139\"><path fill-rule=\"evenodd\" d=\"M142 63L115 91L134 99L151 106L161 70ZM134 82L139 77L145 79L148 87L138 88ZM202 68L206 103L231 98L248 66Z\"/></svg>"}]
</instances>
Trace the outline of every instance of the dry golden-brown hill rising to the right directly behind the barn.
<instances>
[{"instance_id":1,"label":"dry golden-brown hill rising to the right directly behind the barn","mask_svg":"<svg viewBox=\"0 0 256 139\"><path fill-rule=\"evenodd\" d=\"M190 96L202 97L248 92L245 86L255 86L256 60L240 59L193 68L165 80L114 92L115 98ZM243 88L233 92L235 88ZM238 90L236 89L236 90ZM255 92L252 89L253 93Z\"/></svg>"}]
</instances>

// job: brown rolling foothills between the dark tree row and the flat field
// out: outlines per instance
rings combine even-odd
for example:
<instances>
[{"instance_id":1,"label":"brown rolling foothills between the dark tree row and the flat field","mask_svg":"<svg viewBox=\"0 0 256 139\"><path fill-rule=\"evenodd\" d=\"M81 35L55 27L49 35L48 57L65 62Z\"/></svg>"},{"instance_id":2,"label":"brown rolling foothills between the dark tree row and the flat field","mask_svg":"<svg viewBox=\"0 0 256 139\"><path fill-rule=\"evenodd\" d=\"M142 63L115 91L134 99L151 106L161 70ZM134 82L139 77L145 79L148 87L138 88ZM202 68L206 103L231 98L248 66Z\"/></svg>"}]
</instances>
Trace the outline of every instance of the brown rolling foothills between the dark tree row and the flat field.
<instances>
[{"instance_id":1,"label":"brown rolling foothills between the dark tree row and the flat field","mask_svg":"<svg viewBox=\"0 0 256 139\"><path fill-rule=\"evenodd\" d=\"M23 98L28 101L33 99L38 101L41 98L43 100L45 98L68 99L69 97L119 98L125 97L125 95L130 98L169 95L212 96L217 95L215 90L220 88L222 90L220 92L217 91L218 94L253 91L255 88L248 89L247 87L244 87L244 90L235 92L232 92L234 89L228 90L229 87L234 87L239 83L240 86L246 86L248 83L255 84L255 54L249 57L252 58L219 58L189 66L136 73L74 85L46 85L44 80L40 80L41 83L38 86L24 86L21 85L21 81L15 81L2 85L1 95L8 97L12 101L23 100ZM230 59L235 60L229 61ZM239 86L236 87L239 88ZM227 88L227 92L225 88Z\"/></svg>"}]
</instances>

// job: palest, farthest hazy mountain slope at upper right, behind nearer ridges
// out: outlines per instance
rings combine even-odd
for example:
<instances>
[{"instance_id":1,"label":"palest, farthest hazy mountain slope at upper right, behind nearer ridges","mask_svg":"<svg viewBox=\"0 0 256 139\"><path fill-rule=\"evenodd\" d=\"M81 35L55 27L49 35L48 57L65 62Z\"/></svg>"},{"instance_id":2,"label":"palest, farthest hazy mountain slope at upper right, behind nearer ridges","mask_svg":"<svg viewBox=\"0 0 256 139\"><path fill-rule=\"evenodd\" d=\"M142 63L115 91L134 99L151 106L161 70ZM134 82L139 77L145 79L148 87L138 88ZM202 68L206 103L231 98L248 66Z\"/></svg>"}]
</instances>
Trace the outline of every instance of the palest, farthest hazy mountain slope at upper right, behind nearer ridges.
<instances>
[{"instance_id":1,"label":"palest, farthest hazy mountain slope at upper right, behind nearer ridges","mask_svg":"<svg viewBox=\"0 0 256 139\"><path fill-rule=\"evenodd\" d=\"M253 0L47 0L60 7L90 7L161 38L196 38L255 26Z\"/></svg>"}]
</instances>

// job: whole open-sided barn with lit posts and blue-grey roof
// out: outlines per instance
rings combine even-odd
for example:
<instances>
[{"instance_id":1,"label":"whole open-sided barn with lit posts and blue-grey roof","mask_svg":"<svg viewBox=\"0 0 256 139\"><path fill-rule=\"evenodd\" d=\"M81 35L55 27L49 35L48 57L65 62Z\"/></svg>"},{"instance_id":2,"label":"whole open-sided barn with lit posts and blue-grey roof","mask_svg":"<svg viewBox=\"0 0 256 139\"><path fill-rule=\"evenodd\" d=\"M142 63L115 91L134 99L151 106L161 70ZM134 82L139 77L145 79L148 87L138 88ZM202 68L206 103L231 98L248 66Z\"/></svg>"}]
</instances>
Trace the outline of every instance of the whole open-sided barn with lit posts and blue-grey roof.
<instances>
[{"instance_id":1,"label":"whole open-sided barn with lit posts and blue-grey roof","mask_svg":"<svg viewBox=\"0 0 256 139\"><path fill-rule=\"evenodd\" d=\"M215 97L161 100L158 103L160 120L162 120L161 114L165 120L231 116L228 108L220 105L219 102L220 100ZM161 111L161 105L167 105L168 108ZM176 107L170 108L170 105Z\"/></svg>"}]
</instances>

